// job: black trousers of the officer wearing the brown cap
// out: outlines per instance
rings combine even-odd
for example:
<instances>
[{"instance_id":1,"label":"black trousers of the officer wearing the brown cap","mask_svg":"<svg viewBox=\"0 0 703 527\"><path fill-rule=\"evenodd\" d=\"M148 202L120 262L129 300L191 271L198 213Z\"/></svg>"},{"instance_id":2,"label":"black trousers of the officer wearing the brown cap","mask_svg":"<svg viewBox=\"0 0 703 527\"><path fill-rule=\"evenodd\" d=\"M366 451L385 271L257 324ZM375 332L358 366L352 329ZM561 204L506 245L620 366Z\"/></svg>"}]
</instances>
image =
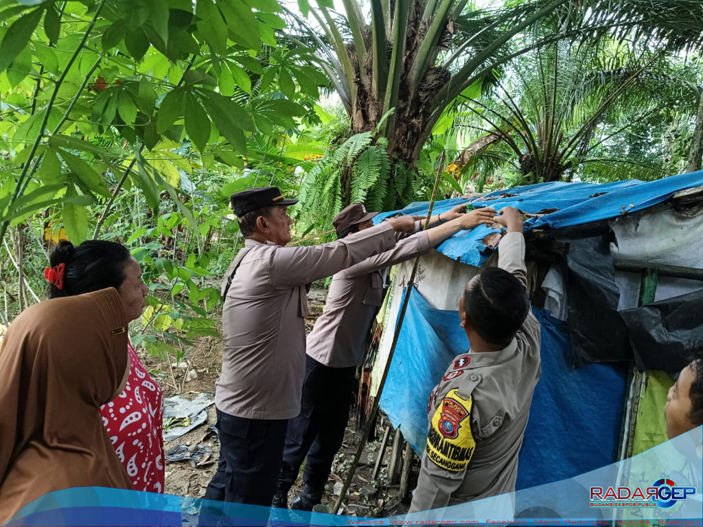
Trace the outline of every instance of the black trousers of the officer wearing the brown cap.
<instances>
[{"instance_id":1,"label":"black trousers of the officer wearing the brown cap","mask_svg":"<svg viewBox=\"0 0 703 527\"><path fill-rule=\"evenodd\" d=\"M300 415L290 419L283 450L278 493L288 494L307 455L303 481L323 492L335 454L344 441L356 366L329 367L306 356Z\"/></svg>"}]
</instances>

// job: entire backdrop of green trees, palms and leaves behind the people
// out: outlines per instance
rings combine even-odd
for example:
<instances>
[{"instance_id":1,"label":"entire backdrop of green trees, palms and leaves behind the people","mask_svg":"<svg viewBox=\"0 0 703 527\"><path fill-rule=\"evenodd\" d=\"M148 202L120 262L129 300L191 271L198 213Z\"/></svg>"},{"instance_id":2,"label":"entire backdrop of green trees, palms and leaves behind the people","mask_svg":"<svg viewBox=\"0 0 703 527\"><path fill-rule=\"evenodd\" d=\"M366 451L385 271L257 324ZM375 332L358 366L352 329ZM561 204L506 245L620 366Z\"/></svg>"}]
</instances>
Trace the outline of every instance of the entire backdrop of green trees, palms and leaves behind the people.
<instances>
[{"instance_id":1,"label":"entire backdrop of green trees, palms and leaves behind the people","mask_svg":"<svg viewBox=\"0 0 703 527\"><path fill-rule=\"evenodd\" d=\"M53 245L126 244L150 288L135 344L170 363L217 337L238 190L298 197L300 239L351 202L428 200L438 172L451 197L544 181L555 167L598 181L676 171L701 77L659 47L699 44L699 11L688 0L557 4L375 2L372 27L356 1L344 1L345 20L330 0L300 0L311 32L276 0L0 1L0 238L23 255L37 297L45 229ZM417 27L399 27L408 20ZM342 105L323 109L332 87ZM11 319L30 301L1 247Z\"/></svg>"}]
</instances>

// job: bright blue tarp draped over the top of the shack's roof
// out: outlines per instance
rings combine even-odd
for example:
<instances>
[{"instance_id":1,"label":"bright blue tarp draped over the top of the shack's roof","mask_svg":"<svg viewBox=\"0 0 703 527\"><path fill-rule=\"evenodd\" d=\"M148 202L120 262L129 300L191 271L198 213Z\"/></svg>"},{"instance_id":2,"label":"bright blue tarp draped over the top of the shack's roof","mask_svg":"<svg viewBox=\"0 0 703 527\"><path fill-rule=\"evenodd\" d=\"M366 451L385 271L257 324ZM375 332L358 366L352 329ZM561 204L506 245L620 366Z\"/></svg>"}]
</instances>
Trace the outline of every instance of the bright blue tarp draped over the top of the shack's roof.
<instances>
[{"instance_id":1,"label":"bright blue tarp draped over the top of the shack's roof","mask_svg":"<svg viewBox=\"0 0 703 527\"><path fill-rule=\"evenodd\" d=\"M593 221L618 218L668 200L681 190L703 186L703 171L681 174L643 182L637 180L616 183L540 183L510 190L497 190L485 195L481 201L456 198L435 202L432 214L446 212L457 204L472 201L474 207L517 207L522 212L539 214L547 209L559 209L540 218L525 222L525 228L557 229L592 223ZM489 198L486 200L486 198ZM495 199L490 199L495 198ZM404 214L427 214L429 203L415 202L402 209ZM398 211L396 211L398 212ZM376 221L396 214L379 214ZM459 233L446 240L437 250L451 259L472 266L481 266L490 256L492 249L482 240L498 230L479 226L474 230Z\"/></svg>"}]
</instances>

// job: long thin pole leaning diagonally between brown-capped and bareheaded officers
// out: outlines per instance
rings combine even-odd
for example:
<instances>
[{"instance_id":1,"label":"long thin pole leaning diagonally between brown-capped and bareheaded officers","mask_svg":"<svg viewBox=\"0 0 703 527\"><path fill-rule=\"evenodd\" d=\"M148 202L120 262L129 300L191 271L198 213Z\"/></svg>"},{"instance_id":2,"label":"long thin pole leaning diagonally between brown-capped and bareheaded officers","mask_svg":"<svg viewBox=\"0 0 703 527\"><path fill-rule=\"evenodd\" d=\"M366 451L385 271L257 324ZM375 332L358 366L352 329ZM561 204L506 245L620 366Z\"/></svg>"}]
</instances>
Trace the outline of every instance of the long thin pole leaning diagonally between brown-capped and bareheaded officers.
<instances>
[{"instance_id":1,"label":"long thin pole leaning diagonally between brown-capped and bareheaded officers","mask_svg":"<svg viewBox=\"0 0 703 527\"><path fill-rule=\"evenodd\" d=\"M430 208L427 210L427 216L425 217L425 226L423 230L427 230L430 227L430 218L432 217L432 209L434 209L434 200L437 199L437 189L439 188L439 180L441 179L441 174L444 172L444 160L446 158L446 150L442 152L441 160L439 161L439 169L437 169L437 178L434 180L434 188L432 189L432 198L430 200ZM344 496L347 495L347 490L349 490L349 485L352 484L352 479L356 473L356 467L359 466L359 460L361 459L361 454L363 453L363 448L366 446L366 441L368 441L368 436L371 432L371 427L373 426L374 417L376 412L378 412L378 403L381 400L381 393L383 391L383 386L386 384L386 378L388 377L388 371L390 370L391 363L393 361L393 354L395 353L396 346L398 344L398 339L400 337L400 330L403 327L403 321L405 320L405 313L408 311L408 301L410 300L410 295L413 292L413 284L415 282L415 273L418 271L418 263L420 263L420 257L415 258L415 263L413 263L413 271L408 280L408 285L405 298L403 299L403 305L401 306L400 315L398 318L398 323L396 324L395 331L393 333L393 343L391 344L391 349L388 352L388 360L383 369L383 375L381 381L378 384L378 393L373 398L373 406L371 407L371 413L366 421L366 427L364 427L363 435L361 436L361 441L359 442L359 448L356 449L356 455L354 455L354 461L352 462L352 467L349 468L349 474L347 474L347 479L344 480L344 486L342 487L342 492L340 497L337 498L335 507L332 509L332 514L337 514L342 506L342 500Z\"/></svg>"}]
</instances>

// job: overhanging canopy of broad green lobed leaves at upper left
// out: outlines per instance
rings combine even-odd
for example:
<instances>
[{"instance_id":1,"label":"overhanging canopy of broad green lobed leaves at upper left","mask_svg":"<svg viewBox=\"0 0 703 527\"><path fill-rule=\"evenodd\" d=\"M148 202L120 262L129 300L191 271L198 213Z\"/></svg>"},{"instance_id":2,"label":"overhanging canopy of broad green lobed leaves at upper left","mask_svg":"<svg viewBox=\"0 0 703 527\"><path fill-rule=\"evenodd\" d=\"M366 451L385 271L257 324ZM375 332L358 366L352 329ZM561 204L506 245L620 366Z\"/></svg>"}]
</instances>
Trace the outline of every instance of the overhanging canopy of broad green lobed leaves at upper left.
<instances>
[{"instance_id":1,"label":"overhanging canopy of broad green lobed leaves at upper left","mask_svg":"<svg viewBox=\"0 0 703 527\"><path fill-rule=\"evenodd\" d=\"M156 196L168 189L155 174L166 172L162 181L176 188L179 168L162 160L134 171L138 152L186 140L202 157L218 152L220 162L243 167L252 132L295 128L308 111L298 102L327 84L309 51L276 47L275 31L285 28L276 1L29 4L0 8L8 26L0 34L0 138L10 156L0 177L16 183L0 202L2 234L32 181L110 197L120 186L108 188L106 174L128 166L157 210ZM35 196L58 203L65 192Z\"/></svg>"}]
</instances>

